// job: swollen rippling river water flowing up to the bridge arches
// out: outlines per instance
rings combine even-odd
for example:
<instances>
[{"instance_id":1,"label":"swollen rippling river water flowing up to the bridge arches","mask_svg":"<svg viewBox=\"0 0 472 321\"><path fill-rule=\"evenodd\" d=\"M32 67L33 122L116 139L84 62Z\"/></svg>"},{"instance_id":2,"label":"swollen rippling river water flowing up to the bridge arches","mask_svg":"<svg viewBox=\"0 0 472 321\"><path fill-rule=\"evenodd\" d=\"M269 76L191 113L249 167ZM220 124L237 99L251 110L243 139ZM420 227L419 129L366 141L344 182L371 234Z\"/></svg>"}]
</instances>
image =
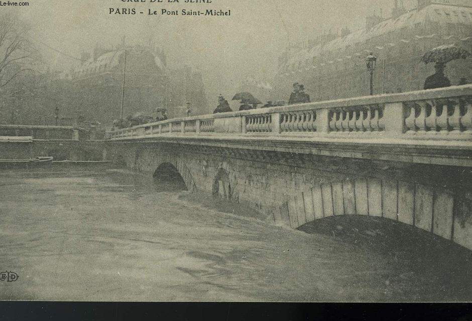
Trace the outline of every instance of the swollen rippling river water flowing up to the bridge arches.
<instances>
[{"instance_id":1,"label":"swollen rippling river water flowing up to the bridge arches","mask_svg":"<svg viewBox=\"0 0 472 321\"><path fill-rule=\"evenodd\" d=\"M234 212L234 213L231 213ZM0 172L0 299L470 301L470 251L372 218L300 230L125 170Z\"/></svg>"}]
</instances>

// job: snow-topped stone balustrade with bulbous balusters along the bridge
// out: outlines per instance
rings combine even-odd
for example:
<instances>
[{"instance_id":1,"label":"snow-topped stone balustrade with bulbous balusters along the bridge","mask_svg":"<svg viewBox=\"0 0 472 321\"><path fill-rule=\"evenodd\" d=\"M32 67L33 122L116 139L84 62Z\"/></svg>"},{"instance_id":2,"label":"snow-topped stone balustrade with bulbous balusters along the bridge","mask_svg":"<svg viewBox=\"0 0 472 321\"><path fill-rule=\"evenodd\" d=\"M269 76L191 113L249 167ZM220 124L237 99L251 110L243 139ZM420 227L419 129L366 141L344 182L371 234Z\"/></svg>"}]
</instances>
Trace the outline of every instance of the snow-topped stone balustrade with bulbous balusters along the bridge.
<instances>
[{"instance_id":1,"label":"snow-topped stone balustrade with bulbous balusters along the bridge","mask_svg":"<svg viewBox=\"0 0 472 321\"><path fill-rule=\"evenodd\" d=\"M472 85L174 118L106 133L472 140Z\"/></svg>"}]
</instances>

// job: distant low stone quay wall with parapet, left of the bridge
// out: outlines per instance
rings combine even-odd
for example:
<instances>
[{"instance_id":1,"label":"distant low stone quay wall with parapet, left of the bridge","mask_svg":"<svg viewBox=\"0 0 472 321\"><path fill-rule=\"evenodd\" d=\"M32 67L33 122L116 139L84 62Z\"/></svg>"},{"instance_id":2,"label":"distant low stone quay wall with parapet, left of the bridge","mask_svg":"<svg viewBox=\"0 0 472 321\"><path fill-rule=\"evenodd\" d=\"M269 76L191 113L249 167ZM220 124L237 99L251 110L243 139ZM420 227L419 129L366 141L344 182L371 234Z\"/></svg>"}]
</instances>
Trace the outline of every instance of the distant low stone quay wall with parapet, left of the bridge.
<instances>
[{"instance_id":1,"label":"distant low stone quay wall with parapet, left of the bridge","mask_svg":"<svg viewBox=\"0 0 472 321\"><path fill-rule=\"evenodd\" d=\"M0 159L101 161L106 157L103 140L89 138L72 126L0 125Z\"/></svg>"}]
</instances>

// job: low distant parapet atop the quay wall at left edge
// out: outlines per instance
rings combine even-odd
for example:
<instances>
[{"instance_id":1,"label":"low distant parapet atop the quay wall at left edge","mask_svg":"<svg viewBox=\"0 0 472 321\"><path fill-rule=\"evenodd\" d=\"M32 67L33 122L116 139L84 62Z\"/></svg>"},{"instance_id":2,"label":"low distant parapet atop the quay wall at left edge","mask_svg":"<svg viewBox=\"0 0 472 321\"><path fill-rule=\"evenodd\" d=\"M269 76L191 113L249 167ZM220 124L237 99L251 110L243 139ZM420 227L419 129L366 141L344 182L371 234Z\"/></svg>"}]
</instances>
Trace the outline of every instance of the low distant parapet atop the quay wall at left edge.
<instances>
[{"instance_id":1,"label":"low distant parapet atop the quay wall at left edge","mask_svg":"<svg viewBox=\"0 0 472 321\"><path fill-rule=\"evenodd\" d=\"M31 136L34 139L78 140L72 126L0 125L0 136Z\"/></svg>"}]
</instances>

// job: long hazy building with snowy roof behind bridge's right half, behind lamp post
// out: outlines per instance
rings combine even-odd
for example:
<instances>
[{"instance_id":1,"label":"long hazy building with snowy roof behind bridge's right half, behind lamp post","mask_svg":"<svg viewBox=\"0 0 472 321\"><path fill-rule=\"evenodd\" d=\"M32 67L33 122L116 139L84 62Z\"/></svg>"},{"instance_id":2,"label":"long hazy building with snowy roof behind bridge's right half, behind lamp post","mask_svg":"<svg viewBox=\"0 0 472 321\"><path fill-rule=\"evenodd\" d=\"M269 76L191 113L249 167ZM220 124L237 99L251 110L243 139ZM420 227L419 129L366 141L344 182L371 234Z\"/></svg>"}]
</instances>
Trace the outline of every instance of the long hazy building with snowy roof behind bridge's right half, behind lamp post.
<instances>
[{"instance_id":1,"label":"long hazy building with snowy roof behind bridge's right half, behind lamp post","mask_svg":"<svg viewBox=\"0 0 472 321\"><path fill-rule=\"evenodd\" d=\"M472 4L419 0L407 11L395 2L391 18L369 16L362 30L343 29L335 39L325 38L287 48L270 91L273 98L287 99L294 82L305 85L312 101L368 95L365 58L370 51L378 58L374 94L423 89L425 78L434 73L433 64L421 62L427 50L454 44L472 52ZM470 82L471 60L452 61L445 73L453 85L461 78Z\"/></svg>"}]
</instances>

